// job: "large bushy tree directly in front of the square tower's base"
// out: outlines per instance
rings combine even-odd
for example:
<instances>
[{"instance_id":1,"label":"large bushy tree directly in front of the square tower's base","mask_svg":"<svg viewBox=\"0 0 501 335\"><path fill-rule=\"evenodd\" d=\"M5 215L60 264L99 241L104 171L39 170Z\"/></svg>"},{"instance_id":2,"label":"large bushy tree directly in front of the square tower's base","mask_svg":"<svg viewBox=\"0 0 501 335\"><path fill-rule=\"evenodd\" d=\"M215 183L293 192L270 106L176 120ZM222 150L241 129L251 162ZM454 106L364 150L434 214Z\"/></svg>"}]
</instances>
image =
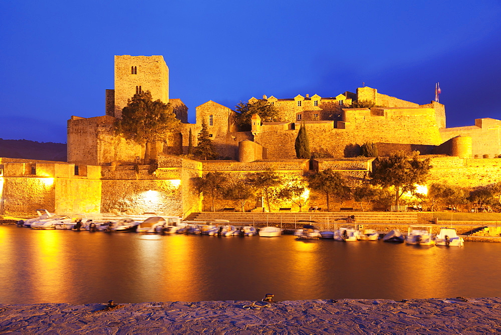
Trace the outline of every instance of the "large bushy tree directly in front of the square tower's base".
<instances>
[{"instance_id":1,"label":"large bushy tree directly in front of the square tower's base","mask_svg":"<svg viewBox=\"0 0 501 335\"><path fill-rule=\"evenodd\" d=\"M151 143L164 140L179 123L170 104L153 101L150 91L145 91L128 100L122 109L122 118L115 121L115 130L127 139L145 144L144 163L148 164Z\"/></svg>"}]
</instances>

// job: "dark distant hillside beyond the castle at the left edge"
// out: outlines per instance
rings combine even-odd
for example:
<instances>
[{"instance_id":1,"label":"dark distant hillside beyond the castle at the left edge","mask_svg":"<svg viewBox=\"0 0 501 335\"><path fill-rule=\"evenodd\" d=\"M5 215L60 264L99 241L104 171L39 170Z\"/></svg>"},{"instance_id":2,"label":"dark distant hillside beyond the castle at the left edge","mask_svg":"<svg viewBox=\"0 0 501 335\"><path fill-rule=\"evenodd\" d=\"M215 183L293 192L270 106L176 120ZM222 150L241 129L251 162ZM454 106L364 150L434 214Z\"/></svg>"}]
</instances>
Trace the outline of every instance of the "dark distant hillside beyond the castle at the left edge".
<instances>
[{"instance_id":1,"label":"dark distant hillside beyond the castle at the left edge","mask_svg":"<svg viewBox=\"0 0 501 335\"><path fill-rule=\"evenodd\" d=\"M0 157L66 161L66 144L0 138Z\"/></svg>"}]
</instances>

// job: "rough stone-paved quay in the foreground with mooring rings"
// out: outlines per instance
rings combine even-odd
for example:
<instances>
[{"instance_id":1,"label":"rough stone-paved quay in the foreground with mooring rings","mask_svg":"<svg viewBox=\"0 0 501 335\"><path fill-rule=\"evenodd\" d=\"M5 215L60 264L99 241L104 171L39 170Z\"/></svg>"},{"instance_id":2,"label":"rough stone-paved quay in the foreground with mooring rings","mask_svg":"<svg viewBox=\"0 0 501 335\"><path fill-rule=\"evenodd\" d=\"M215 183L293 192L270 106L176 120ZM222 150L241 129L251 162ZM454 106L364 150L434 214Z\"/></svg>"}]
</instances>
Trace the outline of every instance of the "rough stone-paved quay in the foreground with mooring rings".
<instances>
[{"instance_id":1,"label":"rough stone-paved quay in the foreground with mooring rings","mask_svg":"<svg viewBox=\"0 0 501 335\"><path fill-rule=\"evenodd\" d=\"M0 332L501 332L499 297L296 300L244 309L250 302L142 302L113 310L102 310L106 304L101 303L0 304Z\"/></svg>"}]
</instances>

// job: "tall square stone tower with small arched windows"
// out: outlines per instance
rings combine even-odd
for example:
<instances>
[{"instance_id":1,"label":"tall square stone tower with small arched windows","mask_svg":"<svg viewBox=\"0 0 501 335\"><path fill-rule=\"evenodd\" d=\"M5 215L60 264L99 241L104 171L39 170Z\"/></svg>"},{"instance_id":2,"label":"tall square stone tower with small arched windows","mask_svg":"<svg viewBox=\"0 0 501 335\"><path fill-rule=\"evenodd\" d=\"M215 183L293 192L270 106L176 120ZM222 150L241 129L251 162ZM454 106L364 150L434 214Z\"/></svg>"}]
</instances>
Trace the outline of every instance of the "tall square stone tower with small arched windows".
<instances>
[{"instance_id":1,"label":"tall square stone tower with small arched windows","mask_svg":"<svg viewBox=\"0 0 501 335\"><path fill-rule=\"evenodd\" d=\"M115 56L115 89L106 90L106 115L121 117L127 100L141 91L169 102L169 68L163 56Z\"/></svg>"}]
</instances>

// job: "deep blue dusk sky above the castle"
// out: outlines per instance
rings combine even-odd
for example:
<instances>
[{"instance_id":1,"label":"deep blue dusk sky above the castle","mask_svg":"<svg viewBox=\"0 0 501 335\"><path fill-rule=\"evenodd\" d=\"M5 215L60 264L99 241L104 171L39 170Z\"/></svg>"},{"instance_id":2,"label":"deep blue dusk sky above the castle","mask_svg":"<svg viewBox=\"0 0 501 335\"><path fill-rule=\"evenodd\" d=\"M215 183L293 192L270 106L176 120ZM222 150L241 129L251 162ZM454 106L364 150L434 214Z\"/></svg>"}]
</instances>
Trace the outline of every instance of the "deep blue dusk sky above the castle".
<instances>
[{"instance_id":1,"label":"deep blue dusk sky above the castle","mask_svg":"<svg viewBox=\"0 0 501 335\"><path fill-rule=\"evenodd\" d=\"M0 138L66 142L105 114L114 55L163 55L194 122L212 100L378 92L419 104L440 82L447 126L501 118L499 1L0 2Z\"/></svg>"}]
</instances>

